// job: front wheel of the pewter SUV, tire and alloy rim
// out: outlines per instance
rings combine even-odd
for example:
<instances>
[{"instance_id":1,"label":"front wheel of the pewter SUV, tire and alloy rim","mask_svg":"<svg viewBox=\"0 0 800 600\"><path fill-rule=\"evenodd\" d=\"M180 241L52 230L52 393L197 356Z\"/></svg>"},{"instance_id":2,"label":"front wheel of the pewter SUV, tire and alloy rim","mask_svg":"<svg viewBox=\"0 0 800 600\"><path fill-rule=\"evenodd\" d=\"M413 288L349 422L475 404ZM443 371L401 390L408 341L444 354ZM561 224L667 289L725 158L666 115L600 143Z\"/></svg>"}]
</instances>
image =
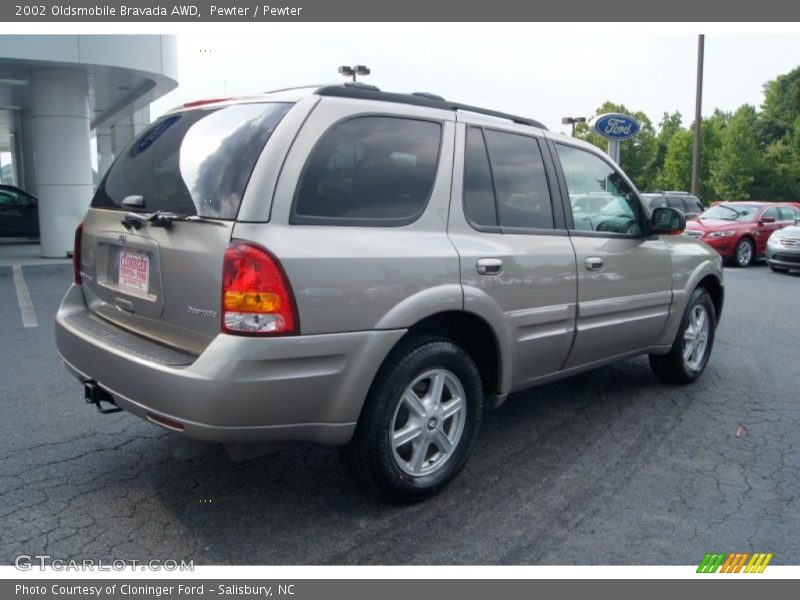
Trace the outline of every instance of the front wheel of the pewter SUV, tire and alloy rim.
<instances>
[{"instance_id":1,"label":"front wheel of the pewter SUV, tire and alloy rim","mask_svg":"<svg viewBox=\"0 0 800 600\"><path fill-rule=\"evenodd\" d=\"M698 319L704 315L704 325L701 326L701 336L697 336ZM711 350L714 347L714 334L717 328L716 311L711 296L704 288L697 288L692 292L686 310L683 312L681 326L675 341L667 354L651 354L650 367L653 372L668 383L693 383L697 381L708 364ZM690 336L691 339L687 339ZM693 341L692 341L693 340ZM698 345L700 341L704 345ZM689 357L686 344L695 344Z\"/></svg>"}]
</instances>

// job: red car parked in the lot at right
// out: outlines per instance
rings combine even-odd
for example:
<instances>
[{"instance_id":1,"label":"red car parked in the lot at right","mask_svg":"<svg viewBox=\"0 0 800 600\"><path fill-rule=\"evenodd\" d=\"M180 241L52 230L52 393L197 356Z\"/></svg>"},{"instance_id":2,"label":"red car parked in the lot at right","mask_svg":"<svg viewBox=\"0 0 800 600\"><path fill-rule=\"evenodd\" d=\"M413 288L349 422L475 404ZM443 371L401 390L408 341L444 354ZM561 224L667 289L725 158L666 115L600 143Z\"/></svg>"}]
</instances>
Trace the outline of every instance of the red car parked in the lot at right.
<instances>
[{"instance_id":1,"label":"red car parked in the lot at right","mask_svg":"<svg viewBox=\"0 0 800 600\"><path fill-rule=\"evenodd\" d=\"M766 255L773 231L794 225L795 214L791 203L719 202L686 223L684 233L703 240L726 262L746 267Z\"/></svg>"}]
</instances>

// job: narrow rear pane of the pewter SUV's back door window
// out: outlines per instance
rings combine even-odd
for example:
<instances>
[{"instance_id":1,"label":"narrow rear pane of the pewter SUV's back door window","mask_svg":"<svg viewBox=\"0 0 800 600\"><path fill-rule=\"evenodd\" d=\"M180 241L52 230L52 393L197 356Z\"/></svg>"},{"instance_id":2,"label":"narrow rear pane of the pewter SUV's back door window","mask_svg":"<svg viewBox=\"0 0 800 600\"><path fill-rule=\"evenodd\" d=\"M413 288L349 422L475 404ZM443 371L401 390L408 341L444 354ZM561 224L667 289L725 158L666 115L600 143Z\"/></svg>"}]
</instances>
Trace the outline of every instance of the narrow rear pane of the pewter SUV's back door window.
<instances>
[{"instance_id":1,"label":"narrow rear pane of the pewter SUV's back door window","mask_svg":"<svg viewBox=\"0 0 800 600\"><path fill-rule=\"evenodd\" d=\"M483 132L477 127L467 130L464 149L464 214L473 225L498 225L489 155L486 153Z\"/></svg>"}]
</instances>

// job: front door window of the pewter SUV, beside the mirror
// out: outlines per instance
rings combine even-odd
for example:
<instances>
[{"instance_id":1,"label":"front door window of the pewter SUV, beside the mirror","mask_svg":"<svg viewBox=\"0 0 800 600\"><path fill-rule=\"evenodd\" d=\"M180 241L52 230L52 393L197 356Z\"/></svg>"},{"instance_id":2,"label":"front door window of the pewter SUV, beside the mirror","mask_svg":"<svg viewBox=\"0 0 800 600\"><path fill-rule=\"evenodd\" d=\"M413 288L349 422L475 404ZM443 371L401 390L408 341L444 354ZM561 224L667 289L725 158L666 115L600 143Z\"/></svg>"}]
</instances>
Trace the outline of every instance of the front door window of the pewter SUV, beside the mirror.
<instances>
[{"instance_id":1,"label":"front door window of the pewter SUV, beside the mirror","mask_svg":"<svg viewBox=\"0 0 800 600\"><path fill-rule=\"evenodd\" d=\"M642 235L639 198L616 169L581 148L566 144L556 144L556 148L567 182L573 227L608 234ZM599 211L579 210L580 200L592 194L605 195L607 204Z\"/></svg>"}]
</instances>

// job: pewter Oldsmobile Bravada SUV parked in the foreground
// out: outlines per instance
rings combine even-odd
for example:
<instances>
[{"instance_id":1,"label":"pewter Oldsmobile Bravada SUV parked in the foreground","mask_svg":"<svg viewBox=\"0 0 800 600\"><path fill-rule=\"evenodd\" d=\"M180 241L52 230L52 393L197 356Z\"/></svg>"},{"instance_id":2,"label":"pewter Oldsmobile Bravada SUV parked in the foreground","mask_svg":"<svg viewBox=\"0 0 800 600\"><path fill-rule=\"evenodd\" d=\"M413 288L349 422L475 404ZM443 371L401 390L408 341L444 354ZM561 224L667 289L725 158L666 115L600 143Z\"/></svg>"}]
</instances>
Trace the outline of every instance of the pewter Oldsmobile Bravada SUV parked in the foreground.
<instances>
[{"instance_id":1,"label":"pewter Oldsmobile Bravada SUV parked in the foreground","mask_svg":"<svg viewBox=\"0 0 800 600\"><path fill-rule=\"evenodd\" d=\"M642 354L667 381L700 376L723 279L684 225L597 148L430 94L191 103L100 184L58 349L103 412L339 445L415 501L511 392Z\"/></svg>"}]
</instances>

